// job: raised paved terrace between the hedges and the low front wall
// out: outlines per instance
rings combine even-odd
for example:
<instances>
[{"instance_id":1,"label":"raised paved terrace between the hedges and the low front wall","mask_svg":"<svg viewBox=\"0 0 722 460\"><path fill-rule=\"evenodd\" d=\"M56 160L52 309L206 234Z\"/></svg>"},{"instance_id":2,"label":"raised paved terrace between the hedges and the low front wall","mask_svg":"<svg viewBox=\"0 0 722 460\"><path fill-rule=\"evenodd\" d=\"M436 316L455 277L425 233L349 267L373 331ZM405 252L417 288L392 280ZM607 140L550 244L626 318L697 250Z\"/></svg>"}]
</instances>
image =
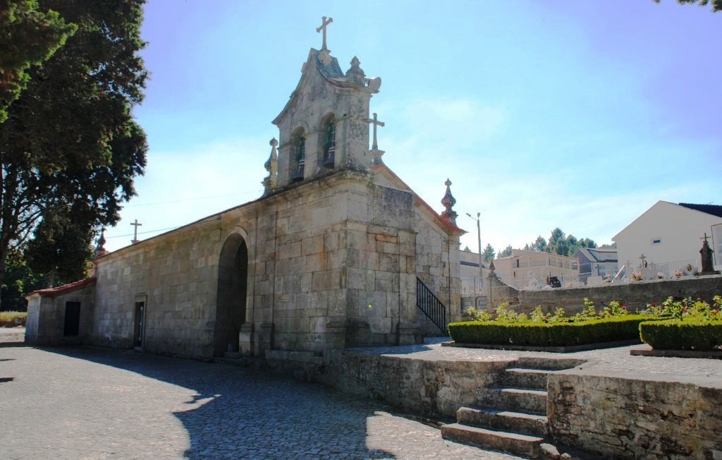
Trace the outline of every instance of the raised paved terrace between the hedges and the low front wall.
<instances>
[{"instance_id":1,"label":"raised paved terrace between the hedges and the low front wall","mask_svg":"<svg viewBox=\"0 0 722 460\"><path fill-rule=\"evenodd\" d=\"M508 350L484 350L479 348L442 347L451 338L427 339L422 345L405 347L372 347L351 350L355 353L387 355L414 360L434 361L508 361L521 356L579 359L586 363L574 372L594 376L619 376L622 378L649 378L652 380L682 383L705 383L722 388L722 360L632 356L630 350L651 350L646 344L615 347L573 353L523 352Z\"/></svg>"}]
</instances>

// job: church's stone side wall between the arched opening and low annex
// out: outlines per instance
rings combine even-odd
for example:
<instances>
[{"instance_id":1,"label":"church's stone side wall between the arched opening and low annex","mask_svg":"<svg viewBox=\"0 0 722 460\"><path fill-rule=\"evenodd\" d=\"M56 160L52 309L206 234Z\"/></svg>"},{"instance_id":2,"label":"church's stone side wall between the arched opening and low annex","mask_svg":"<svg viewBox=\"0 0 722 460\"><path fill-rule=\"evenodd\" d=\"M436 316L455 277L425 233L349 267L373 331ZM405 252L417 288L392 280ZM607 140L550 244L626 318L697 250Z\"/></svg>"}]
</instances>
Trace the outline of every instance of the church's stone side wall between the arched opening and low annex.
<instances>
[{"instance_id":1,"label":"church's stone side wall between the arched opening and low annex","mask_svg":"<svg viewBox=\"0 0 722 460\"><path fill-rule=\"evenodd\" d=\"M211 355L219 224L205 220L100 259L93 343L132 347L135 303L144 301L144 349Z\"/></svg>"}]
</instances>

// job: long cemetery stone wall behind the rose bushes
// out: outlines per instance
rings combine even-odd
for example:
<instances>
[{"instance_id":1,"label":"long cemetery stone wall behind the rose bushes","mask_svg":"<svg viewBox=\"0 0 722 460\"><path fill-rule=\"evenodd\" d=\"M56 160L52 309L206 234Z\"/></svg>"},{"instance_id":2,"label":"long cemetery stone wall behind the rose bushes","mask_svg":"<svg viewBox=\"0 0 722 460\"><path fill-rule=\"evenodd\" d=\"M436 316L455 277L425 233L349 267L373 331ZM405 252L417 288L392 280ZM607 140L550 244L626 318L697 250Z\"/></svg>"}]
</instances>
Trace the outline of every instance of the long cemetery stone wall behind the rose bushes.
<instances>
[{"instance_id":1,"label":"long cemetery stone wall behind the rose bushes","mask_svg":"<svg viewBox=\"0 0 722 460\"><path fill-rule=\"evenodd\" d=\"M708 302L714 295L722 295L722 276L690 277L688 279L663 279L627 284L609 284L597 287L557 288L550 290L516 290L500 279L490 277L491 305L509 302L518 311L529 312L537 305L544 311L554 311L561 306L567 314L583 310L583 299L593 300L597 308L611 300L627 305L630 310L645 308L650 302L661 302L673 297L703 298Z\"/></svg>"}]
</instances>

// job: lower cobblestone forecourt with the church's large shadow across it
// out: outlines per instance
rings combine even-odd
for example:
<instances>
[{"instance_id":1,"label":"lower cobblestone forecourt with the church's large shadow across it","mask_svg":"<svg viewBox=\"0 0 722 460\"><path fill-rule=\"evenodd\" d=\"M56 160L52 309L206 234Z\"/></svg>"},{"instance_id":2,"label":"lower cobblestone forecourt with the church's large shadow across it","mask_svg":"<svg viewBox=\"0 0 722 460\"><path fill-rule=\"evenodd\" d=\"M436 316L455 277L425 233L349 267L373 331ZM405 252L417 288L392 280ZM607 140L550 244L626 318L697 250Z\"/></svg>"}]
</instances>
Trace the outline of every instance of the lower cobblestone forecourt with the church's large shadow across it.
<instances>
[{"instance_id":1,"label":"lower cobblestone forecourt with the church's large shadow across it","mask_svg":"<svg viewBox=\"0 0 722 460\"><path fill-rule=\"evenodd\" d=\"M0 346L3 459L516 459L383 404L257 370Z\"/></svg>"}]
</instances>

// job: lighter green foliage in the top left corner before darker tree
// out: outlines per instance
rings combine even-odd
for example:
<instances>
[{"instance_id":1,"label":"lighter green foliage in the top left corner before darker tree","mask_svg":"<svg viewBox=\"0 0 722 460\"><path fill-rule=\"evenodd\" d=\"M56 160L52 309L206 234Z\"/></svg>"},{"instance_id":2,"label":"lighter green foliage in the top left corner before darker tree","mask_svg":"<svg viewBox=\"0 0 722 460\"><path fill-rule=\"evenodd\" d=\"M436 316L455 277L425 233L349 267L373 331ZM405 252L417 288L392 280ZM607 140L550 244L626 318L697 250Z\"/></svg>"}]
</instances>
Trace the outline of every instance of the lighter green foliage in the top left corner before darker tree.
<instances>
[{"instance_id":1,"label":"lighter green foliage in the top left corner before darker tree","mask_svg":"<svg viewBox=\"0 0 722 460\"><path fill-rule=\"evenodd\" d=\"M77 27L36 0L0 0L0 123L30 80L30 66L48 59Z\"/></svg>"}]
</instances>

